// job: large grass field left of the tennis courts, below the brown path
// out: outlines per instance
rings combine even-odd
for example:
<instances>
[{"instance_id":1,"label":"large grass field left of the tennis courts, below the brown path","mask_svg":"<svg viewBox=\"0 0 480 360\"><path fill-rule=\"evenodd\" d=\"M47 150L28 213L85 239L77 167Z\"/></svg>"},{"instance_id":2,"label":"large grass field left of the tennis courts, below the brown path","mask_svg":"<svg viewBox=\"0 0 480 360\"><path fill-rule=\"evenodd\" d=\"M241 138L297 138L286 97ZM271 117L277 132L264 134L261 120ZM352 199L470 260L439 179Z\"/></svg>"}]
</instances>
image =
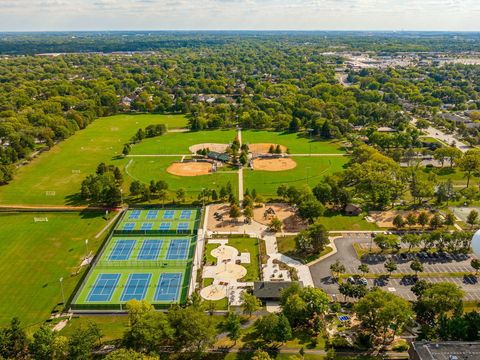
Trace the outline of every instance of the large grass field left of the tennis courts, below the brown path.
<instances>
[{"instance_id":1,"label":"large grass field left of the tennis courts, below the brown path","mask_svg":"<svg viewBox=\"0 0 480 360\"><path fill-rule=\"evenodd\" d=\"M24 326L46 320L62 301L60 277L66 299L83 274L71 276L101 239L95 235L106 225L103 213L0 213L0 326L14 316ZM34 222L47 217L48 222Z\"/></svg>"}]
</instances>

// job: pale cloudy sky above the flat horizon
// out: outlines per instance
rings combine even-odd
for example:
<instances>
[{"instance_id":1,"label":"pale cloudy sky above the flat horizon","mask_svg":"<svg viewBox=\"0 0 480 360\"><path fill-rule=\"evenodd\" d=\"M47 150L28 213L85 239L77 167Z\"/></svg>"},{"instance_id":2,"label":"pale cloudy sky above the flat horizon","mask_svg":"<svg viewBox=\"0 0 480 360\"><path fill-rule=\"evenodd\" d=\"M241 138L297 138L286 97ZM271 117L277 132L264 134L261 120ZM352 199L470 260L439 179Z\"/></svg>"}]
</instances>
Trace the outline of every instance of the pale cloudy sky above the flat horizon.
<instances>
[{"instance_id":1,"label":"pale cloudy sky above the flat horizon","mask_svg":"<svg viewBox=\"0 0 480 360\"><path fill-rule=\"evenodd\" d=\"M480 0L0 0L0 31L480 30Z\"/></svg>"}]
</instances>

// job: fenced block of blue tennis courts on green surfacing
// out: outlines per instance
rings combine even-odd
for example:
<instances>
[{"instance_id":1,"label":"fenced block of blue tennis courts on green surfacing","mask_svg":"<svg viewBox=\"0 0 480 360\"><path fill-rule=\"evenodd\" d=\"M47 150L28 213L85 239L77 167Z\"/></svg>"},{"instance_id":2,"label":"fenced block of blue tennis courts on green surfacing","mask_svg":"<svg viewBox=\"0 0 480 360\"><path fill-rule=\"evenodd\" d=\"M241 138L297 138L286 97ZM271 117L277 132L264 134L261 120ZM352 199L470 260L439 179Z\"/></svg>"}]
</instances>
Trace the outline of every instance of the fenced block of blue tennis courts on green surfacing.
<instances>
[{"instance_id":1,"label":"fenced block of blue tennis courts on green surfacing","mask_svg":"<svg viewBox=\"0 0 480 360\"><path fill-rule=\"evenodd\" d=\"M188 294L198 209L128 210L72 303L74 310L122 310L131 299L157 307Z\"/></svg>"}]
</instances>

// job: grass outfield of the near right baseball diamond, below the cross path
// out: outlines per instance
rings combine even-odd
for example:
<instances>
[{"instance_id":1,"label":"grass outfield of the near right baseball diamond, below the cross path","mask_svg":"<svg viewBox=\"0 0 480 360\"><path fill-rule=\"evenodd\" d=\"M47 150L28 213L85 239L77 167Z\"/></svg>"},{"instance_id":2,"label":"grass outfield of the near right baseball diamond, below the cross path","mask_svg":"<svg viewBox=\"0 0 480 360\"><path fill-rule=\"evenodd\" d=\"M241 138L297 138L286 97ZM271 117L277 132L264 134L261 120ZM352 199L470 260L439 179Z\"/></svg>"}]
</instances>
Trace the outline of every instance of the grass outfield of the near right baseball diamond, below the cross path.
<instances>
[{"instance_id":1,"label":"grass outfield of the near right baseball diamond, below the cross path","mask_svg":"<svg viewBox=\"0 0 480 360\"><path fill-rule=\"evenodd\" d=\"M245 169L243 172L244 189L255 189L257 193L268 197L277 196L277 188L286 186L300 187L309 185L314 187L320 180L329 174L343 170L348 157L292 157L297 167L286 171L259 171Z\"/></svg>"}]
</instances>

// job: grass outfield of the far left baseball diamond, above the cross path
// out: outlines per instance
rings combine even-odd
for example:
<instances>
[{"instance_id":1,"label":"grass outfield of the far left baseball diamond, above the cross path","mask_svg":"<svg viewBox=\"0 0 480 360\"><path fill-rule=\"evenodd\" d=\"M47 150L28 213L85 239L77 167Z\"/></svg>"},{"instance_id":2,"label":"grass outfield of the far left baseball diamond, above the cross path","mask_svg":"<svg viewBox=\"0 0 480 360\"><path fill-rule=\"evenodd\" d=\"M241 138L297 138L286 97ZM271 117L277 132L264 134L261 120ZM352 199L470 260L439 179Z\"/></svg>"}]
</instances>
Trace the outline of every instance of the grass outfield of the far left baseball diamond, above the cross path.
<instances>
[{"instance_id":1,"label":"grass outfield of the far left baseball diamond, above the cross path","mask_svg":"<svg viewBox=\"0 0 480 360\"><path fill-rule=\"evenodd\" d=\"M132 147L132 155L190 154L191 145L202 143L229 144L236 136L235 130L205 130L167 133L151 139L144 139Z\"/></svg>"}]
</instances>

